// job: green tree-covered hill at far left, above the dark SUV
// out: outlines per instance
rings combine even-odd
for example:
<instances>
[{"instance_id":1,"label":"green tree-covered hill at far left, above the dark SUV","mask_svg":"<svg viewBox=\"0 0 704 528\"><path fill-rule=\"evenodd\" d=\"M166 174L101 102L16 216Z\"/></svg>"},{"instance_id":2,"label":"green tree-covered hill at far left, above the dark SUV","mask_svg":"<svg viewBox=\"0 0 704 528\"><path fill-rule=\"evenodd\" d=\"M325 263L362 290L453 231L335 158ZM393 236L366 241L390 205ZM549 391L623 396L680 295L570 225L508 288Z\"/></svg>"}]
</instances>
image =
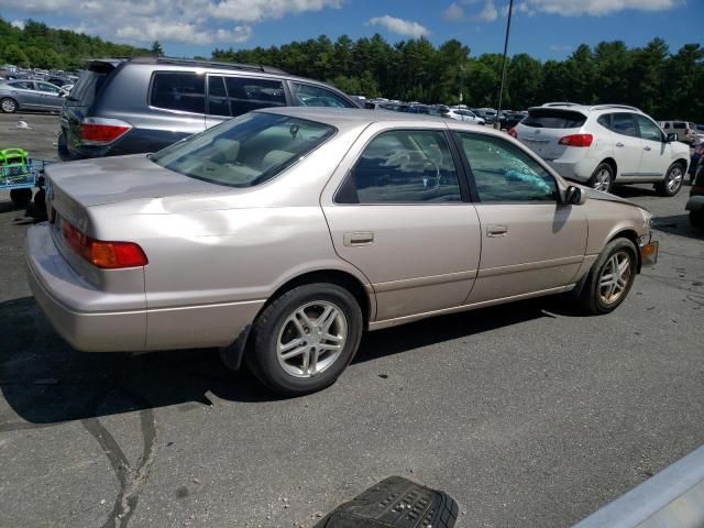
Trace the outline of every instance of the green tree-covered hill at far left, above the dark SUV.
<instances>
[{"instance_id":1,"label":"green tree-covered hill at far left, above the dark SUV","mask_svg":"<svg viewBox=\"0 0 704 528\"><path fill-rule=\"evenodd\" d=\"M113 44L70 30L55 30L33 20L24 22L24 28L15 28L0 18L0 66L72 70L80 68L86 58L148 53L145 48Z\"/></svg>"}]
</instances>

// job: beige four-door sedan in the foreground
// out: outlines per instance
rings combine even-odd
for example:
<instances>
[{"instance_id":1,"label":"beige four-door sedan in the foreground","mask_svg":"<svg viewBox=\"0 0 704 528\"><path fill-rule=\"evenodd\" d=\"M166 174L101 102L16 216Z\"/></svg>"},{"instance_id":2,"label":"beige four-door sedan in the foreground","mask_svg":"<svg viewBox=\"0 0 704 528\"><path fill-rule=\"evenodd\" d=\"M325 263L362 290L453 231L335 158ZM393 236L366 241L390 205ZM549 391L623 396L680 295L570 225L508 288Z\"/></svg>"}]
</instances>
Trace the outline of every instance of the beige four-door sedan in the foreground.
<instances>
[{"instance_id":1,"label":"beige four-door sedan in the foreground","mask_svg":"<svg viewBox=\"0 0 704 528\"><path fill-rule=\"evenodd\" d=\"M562 293L610 312L658 251L645 209L430 117L257 110L46 173L28 270L68 343L219 348L285 395L332 384L365 331Z\"/></svg>"}]
</instances>

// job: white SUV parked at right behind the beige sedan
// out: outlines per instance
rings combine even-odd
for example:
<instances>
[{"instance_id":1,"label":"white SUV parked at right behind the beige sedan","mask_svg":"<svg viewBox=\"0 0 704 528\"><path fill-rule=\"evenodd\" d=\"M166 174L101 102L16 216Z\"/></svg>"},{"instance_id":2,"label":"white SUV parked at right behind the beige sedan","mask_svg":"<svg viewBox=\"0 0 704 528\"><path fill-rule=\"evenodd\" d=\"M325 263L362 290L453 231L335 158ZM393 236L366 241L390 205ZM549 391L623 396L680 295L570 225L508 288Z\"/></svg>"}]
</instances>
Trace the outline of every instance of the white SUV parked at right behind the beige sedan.
<instances>
[{"instance_id":1,"label":"white SUV parked at right behind the beige sedan","mask_svg":"<svg viewBox=\"0 0 704 528\"><path fill-rule=\"evenodd\" d=\"M546 103L509 133L560 175L597 190L654 184L661 196L682 188L690 148L649 116L623 105Z\"/></svg>"}]
</instances>

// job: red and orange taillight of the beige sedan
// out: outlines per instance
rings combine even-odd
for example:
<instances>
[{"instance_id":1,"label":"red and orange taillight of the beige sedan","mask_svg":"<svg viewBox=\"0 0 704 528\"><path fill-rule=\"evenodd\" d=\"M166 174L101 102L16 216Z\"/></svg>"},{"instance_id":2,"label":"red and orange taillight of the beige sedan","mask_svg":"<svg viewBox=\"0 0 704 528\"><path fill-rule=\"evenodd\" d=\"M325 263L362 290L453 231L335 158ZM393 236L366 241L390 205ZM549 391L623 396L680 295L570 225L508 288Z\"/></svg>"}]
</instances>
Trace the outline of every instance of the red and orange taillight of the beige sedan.
<instances>
[{"instance_id":1,"label":"red and orange taillight of the beige sedan","mask_svg":"<svg viewBox=\"0 0 704 528\"><path fill-rule=\"evenodd\" d=\"M95 240L62 219L66 244L81 258L103 270L145 266L148 261L142 248L134 242L106 242Z\"/></svg>"}]
</instances>

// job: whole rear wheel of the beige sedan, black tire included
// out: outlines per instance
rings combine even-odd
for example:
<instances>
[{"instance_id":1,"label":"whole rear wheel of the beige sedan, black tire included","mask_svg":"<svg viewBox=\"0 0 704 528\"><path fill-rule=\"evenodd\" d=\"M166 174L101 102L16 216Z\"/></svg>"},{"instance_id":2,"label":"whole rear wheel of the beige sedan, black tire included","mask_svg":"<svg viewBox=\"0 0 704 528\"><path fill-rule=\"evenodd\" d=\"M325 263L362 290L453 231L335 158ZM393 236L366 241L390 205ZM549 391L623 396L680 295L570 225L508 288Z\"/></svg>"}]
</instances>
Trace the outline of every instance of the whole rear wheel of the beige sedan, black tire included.
<instances>
[{"instance_id":1,"label":"whole rear wheel of the beige sedan, black tire included","mask_svg":"<svg viewBox=\"0 0 704 528\"><path fill-rule=\"evenodd\" d=\"M298 396L328 387L354 356L362 310L336 284L297 286L268 305L252 328L251 371L275 393Z\"/></svg>"}]
</instances>

